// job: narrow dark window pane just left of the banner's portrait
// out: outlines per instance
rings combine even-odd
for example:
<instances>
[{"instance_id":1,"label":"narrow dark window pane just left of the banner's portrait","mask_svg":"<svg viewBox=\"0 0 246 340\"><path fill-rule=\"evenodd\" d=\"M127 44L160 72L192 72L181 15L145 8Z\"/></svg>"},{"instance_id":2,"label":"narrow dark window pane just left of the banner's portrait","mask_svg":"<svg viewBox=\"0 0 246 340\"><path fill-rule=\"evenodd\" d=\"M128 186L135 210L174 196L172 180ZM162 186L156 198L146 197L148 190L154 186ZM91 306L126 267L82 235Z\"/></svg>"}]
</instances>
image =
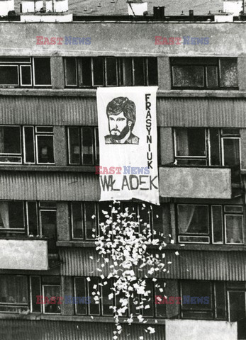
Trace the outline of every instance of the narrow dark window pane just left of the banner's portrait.
<instances>
[{"instance_id":1,"label":"narrow dark window pane just left of the banner's portrait","mask_svg":"<svg viewBox=\"0 0 246 340\"><path fill-rule=\"evenodd\" d=\"M83 165L94 164L94 153L93 153L93 129L82 128L82 157Z\"/></svg>"}]
</instances>

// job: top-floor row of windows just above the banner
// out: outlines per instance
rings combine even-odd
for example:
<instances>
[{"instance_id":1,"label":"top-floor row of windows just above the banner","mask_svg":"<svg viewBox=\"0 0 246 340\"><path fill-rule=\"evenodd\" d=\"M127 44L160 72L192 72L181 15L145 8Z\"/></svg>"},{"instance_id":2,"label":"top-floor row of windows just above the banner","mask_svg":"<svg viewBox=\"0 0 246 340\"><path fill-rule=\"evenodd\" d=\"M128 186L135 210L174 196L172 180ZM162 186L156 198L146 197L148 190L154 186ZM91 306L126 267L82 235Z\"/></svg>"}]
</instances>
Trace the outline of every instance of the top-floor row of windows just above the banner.
<instances>
[{"instance_id":1,"label":"top-floor row of windows just above the banner","mask_svg":"<svg viewBox=\"0 0 246 340\"><path fill-rule=\"evenodd\" d=\"M65 86L158 85L157 57L65 57ZM238 89L237 58L172 57L173 89ZM0 86L51 86L50 58L0 57Z\"/></svg>"}]
</instances>

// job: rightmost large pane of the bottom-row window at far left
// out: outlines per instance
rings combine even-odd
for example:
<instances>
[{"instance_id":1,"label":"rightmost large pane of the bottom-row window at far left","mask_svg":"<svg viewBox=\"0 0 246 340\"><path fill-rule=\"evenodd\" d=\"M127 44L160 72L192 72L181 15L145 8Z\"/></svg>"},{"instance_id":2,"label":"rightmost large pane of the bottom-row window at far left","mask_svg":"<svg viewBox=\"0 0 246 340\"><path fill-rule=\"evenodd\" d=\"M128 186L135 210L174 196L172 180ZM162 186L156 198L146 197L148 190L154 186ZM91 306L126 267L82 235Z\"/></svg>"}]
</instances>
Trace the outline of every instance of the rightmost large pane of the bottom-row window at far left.
<instances>
[{"instance_id":1,"label":"rightmost large pane of the bottom-row window at far left","mask_svg":"<svg viewBox=\"0 0 246 340\"><path fill-rule=\"evenodd\" d=\"M49 297L49 302L43 305L45 313L60 314L61 305L57 303L59 301L57 297L61 296L60 285L43 285L43 293L44 296Z\"/></svg>"}]
</instances>

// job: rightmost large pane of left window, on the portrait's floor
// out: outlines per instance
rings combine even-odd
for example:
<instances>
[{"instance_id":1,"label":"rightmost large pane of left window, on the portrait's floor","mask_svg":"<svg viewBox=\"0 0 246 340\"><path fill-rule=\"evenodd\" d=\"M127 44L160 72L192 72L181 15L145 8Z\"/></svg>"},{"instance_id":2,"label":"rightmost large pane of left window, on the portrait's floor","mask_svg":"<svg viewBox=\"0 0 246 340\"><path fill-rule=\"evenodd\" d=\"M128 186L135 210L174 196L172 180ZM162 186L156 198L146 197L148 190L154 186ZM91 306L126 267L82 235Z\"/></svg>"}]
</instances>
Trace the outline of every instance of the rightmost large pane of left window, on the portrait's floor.
<instances>
[{"instance_id":1,"label":"rightmost large pane of left window, on the portrait's floor","mask_svg":"<svg viewBox=\"0 0 246 340\"><path fill-rule=\"evenodd\" d=\"M38 163L54 163L53 136L37 136Z\"/></svg>"}]
</instances>

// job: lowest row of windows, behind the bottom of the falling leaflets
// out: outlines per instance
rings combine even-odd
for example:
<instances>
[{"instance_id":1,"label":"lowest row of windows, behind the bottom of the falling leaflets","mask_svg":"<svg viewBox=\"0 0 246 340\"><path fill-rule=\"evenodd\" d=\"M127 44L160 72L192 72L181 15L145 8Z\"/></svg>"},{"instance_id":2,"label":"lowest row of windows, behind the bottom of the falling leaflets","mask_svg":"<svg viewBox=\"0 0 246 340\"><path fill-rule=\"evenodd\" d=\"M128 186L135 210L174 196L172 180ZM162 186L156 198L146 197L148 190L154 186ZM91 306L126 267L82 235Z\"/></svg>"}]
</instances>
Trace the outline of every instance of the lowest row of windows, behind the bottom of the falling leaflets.
<instances>
[{"instance_id":1,"label":"lowest row of windows, behind the bottom of the falling leaflets","mask_svg":"<svg viewBox=\"0 0 246 340\"><path fill-rule=\"evenodd\" d=\"M128 310L123 316L128 317L142 314L144 317L167 317L167 304L156 303L156 296L167 295L164 280L146 279L147 297L134 294L130 298ZM87 297L89 303L74 303L74 313L78 315L113 316L110 306L120 306L121 294L116 294L113 288L113 279L104 284L101 278L84 277L74 278L75 297ZM169 285L167 280L167 285ZM62 304L60 276L0 276L0 312L20 313L26 310L35 313L61 314ZM95 294L100 292L99 301L94 300ZM112 295L110 299L108 295ZM37 303L38 297L48 297L49 301ZM182 297L180 307L181 318L184 319L218 319L236 322L246 317L246 284L235 282L212 282L182 280L179 282L179 296ZM89 297L89 298L88 298ZM189 303L189 297L206 297L208 303ZM65 299L65 297L63 297ZM43 298L44 300L44 298ZM203 300L204 301L204 300ZM68 301L67 301L68 302ZM134 303L135 302L135 303ZM148 308L138 308L140 303L148 305ZM71 303L71 301L70 301ZM175 302L176 303L176 302Z\"/></svg>"}]
</instances>

